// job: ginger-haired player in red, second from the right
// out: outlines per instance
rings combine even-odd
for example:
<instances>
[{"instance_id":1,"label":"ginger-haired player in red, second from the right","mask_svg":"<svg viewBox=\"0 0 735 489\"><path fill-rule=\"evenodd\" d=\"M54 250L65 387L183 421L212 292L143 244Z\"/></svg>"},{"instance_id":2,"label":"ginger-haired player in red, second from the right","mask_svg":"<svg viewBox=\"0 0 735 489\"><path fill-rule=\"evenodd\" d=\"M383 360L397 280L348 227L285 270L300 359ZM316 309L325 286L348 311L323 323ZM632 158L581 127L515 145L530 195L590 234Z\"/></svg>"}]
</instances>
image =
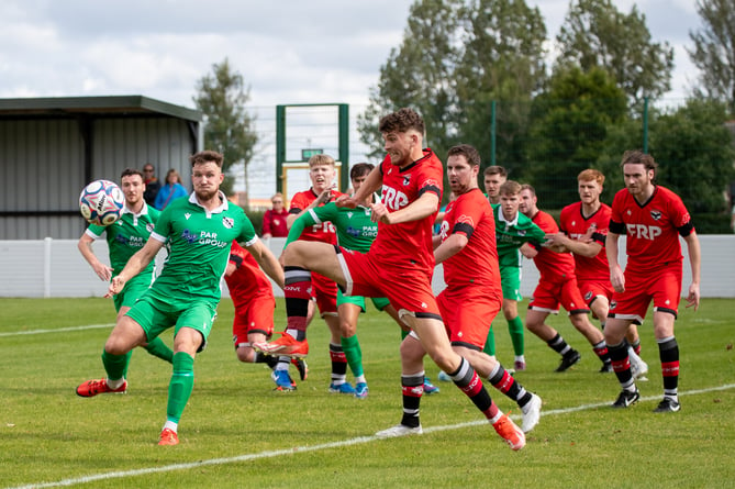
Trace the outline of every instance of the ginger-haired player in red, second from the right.
<instances>
[{"instance_id":1,"label":"ginger-haired player in red, second from the right","mask_svg":"<svg viewBox=\"0 0 735 489\"><path fill-rule=\"evenodd\" d=\"M610 310L613 288L610 284L610 267L604 245L610 224L610 205L600 201L605 176L595 169L582 170L577 176L579 202L561 209L560 232L547 234L548 247L555 252L571 252L575 257L577 287L602 329ZM626 338L634 376L642 378L648 365L638 356L641 338L637 327L632 324Z\"/></svg>"}]
</instances>

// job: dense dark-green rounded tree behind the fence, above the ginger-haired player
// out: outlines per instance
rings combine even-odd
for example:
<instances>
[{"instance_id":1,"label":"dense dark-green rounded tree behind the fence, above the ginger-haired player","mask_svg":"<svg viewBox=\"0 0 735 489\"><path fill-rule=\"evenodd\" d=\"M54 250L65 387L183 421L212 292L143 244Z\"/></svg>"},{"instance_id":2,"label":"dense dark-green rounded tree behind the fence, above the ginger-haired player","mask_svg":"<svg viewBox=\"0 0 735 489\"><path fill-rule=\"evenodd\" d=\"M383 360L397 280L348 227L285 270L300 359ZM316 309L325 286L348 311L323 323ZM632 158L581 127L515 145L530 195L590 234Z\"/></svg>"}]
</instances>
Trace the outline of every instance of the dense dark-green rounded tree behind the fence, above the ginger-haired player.
<instances>
[{"instance_id":1,"label":"dense dark-green rounded tree behind the fence, above the ginger-haired player","mask_svg":"<svg viewBox=\"0 0 735 489\"><path fill-rule=\"evenodd\" d=\"M577 175L593 166L610 127L624 123L626 113L625 93L605 70L557 69L532 114L526 177L543 208L560 209L578 200Z\"/></svg>"}]
</instances>

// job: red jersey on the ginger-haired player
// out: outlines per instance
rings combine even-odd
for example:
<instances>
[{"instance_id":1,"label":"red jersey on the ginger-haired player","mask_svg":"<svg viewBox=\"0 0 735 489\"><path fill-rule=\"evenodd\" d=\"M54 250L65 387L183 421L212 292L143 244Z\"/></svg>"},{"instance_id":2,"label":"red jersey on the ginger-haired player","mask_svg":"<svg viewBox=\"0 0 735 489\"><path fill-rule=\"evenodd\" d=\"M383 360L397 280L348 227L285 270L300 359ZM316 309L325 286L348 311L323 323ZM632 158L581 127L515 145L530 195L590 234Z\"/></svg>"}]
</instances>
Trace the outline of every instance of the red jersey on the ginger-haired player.
<instances>
[{"instance_id":1,"label":"red jersey on the ginger-haired player","mask_svg":"<svg viewBox=\"0 0 735 489\"><path fill-rule=\"evenodd\" d=\"M600 204L592 215L582 214L582 202L576 202L561 209L559 215L559 229L572 240L579 240L589 235L595 243L602 245L602 249L597 256L588 258L577 255L575 257L575 274L577 280L610 280L610 267L608 266L608 255L605 254L605 238L608 237L608 225L610 224L610 205Z\"/></svg>"}]
</instances>

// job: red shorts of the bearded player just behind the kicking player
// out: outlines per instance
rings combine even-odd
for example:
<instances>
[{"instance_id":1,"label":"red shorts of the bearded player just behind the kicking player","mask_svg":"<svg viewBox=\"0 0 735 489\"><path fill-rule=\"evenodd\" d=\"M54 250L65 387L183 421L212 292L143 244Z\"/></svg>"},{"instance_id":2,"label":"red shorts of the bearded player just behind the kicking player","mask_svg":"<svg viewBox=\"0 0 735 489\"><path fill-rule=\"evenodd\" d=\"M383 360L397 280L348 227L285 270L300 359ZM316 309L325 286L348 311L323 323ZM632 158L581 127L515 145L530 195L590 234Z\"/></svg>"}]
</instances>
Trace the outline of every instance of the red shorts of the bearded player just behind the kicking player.
<instances>
[{"instance_id":1,"label":"red shorts of the bearded player just behind the kicking player","mask_svg":"<svg viewBox=\"0 0 735 489\"><path fill-rule=\"evenodd\" d=\"M444 289L436 302L449 342L481 351L488 340L492 320L503 304L503 298L481 287L463 287Z\"/></svg>"}]
</instances>

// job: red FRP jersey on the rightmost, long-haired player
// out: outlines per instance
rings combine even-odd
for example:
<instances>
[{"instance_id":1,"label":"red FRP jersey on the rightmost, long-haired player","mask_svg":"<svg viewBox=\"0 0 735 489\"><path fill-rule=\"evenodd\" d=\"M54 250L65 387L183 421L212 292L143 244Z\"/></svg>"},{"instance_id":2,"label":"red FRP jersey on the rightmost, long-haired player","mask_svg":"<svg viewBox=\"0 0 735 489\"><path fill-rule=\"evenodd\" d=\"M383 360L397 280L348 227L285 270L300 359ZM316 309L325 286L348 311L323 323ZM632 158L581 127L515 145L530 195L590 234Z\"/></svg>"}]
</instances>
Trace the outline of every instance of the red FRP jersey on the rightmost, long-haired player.
<instances>
[{"instance_id":1,"label":"red FRP jersey on the rightmost, long-haired player","mask_svg":"<svg viewBox=\"0 0 735 489\"><path fill-rule=\"evenodd\" d=\"M627 264L636 273L682 262L679 234L688 236L693 230L687 208L669 189L656 186L643 204L627 189L615 193L610 231L627 236Z\"/></svg>"}]
</instances>

